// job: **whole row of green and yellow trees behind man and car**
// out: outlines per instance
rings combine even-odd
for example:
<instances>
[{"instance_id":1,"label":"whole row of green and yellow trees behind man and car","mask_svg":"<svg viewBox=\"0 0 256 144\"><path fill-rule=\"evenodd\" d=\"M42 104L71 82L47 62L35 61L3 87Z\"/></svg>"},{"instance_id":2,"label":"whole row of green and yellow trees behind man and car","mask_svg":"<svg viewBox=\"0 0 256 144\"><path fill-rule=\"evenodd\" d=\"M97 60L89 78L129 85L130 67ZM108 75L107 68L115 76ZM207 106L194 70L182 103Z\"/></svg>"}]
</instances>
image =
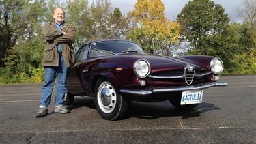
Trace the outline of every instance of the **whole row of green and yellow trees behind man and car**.
<instances>
[{"instance_id":1,"label":"whole row of green and yellow trees behind man and car","mask_svg":"<svg viewBox=\"0 0 256 144\"><path fill-rule=\"evenodd\" d=\"M2 0L0 84L43 81L41 28L53 21L57 7L65 10L66 21L76 28L76 48L89 40L126 38L149 53L171 55L171 46L190 42L186 54L220 57L225 64L223 74L256 74L255 1L244 1L240 25L229 23L221 5L210 0L189 1L177 16L178 23L165 18L165 6L159 0L137 1L135 10L126 16L112 8L110 0L91 5L88 0Z\"/></svg>"}]
</instances>

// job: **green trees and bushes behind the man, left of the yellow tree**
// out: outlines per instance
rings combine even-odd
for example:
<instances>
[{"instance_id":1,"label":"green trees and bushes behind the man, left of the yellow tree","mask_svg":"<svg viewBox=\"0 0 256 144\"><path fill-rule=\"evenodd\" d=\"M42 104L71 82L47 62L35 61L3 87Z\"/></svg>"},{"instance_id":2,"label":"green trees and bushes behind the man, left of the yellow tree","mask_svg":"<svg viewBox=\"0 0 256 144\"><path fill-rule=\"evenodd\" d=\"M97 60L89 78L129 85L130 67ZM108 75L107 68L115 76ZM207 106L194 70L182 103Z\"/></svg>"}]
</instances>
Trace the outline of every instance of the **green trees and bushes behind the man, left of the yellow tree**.
<instances>
[{"instance_id":1,"label":"green trees and bushes behind the man, left of the yellow tree","mask_svg":"<svg viewBox=\"0 0 256 144\"><path fill-rule=\"evenodd\" d=\"M111 7L109 0L3 0L0 1L0 83L42 82L41 67L44 38L41 27L53 21L53 10L66 11L66 21L76 27L78 48L88 40L123 38L130 25L119 8Z\"/></svg>"}]
</instances>

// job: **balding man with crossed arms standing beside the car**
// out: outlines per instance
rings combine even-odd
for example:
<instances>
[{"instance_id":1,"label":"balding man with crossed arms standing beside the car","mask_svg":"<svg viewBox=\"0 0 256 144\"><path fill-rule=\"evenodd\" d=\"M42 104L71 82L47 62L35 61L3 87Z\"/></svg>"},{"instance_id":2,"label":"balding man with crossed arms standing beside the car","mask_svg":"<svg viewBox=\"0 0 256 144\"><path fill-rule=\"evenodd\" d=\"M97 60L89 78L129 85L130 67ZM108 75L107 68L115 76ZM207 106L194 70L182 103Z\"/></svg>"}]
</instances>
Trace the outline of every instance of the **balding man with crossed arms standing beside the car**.
<instances>
[{"instance_id":1,"label":"balding man with crossed arms standing beside the car","mask_svg":"<svg viewBox=\"0 0 256 144\"><path fill-rule=\"evenodd\" d=\"M55 113L69 113L63 106L63 97L66 92L66 76L68 69L74 63L74 26L65 23L65 12L56 8L53 12L53 23L46 23L42 27L42 34L46 40L42 66L44 66L44 85L42 98L36 117L48 115L48 106L51 102L53 85L57 76L55 98Z\"/></svg>"}]
</instances>

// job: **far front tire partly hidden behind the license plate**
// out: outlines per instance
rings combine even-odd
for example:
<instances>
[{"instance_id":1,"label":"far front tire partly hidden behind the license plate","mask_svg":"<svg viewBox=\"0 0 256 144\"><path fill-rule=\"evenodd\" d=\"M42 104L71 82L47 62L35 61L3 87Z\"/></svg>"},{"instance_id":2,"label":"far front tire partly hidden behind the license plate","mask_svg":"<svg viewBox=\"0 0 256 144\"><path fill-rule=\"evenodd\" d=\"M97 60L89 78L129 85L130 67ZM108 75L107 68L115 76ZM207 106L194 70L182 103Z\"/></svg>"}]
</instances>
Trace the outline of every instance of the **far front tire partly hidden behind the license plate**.
<instances>
[{"instance_id":1,"label":"far front tire partly hidden behind the license plate","mask_svg":"<svg viewBox=\"0 0 256 144\"><path fill-rule=\"evenodd\" d=\"M182 99L182 93L178 94L177 96L174 96L173 98L170 98L169 101L171 102L171 104L180 110L190 110L190 109L194 109L196 106L198 106L198 104L186 104L186 105L181 105L180 104L180 100Z\"/></svg>"}]
</instances>

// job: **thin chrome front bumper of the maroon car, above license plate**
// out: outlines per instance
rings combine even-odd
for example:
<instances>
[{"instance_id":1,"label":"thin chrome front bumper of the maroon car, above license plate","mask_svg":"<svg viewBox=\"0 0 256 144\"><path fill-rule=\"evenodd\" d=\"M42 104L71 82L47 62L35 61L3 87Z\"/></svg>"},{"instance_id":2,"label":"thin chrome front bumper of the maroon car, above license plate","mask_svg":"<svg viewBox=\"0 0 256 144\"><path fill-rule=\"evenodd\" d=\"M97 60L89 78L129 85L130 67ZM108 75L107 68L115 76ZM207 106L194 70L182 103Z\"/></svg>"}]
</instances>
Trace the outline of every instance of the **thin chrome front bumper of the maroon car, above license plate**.
<instances>
[{"instance_id":1,"label":"thin chrome front bumper of the maroon car, above license plate","mask_svg":"<svg viewBox=\"0 0 256 144\"><path fill-rule=\"evenodd\" d=\"M139 89L121 89L120 92L128 93L137 96L147 96L152 93L166 93L166 92L177 92L177 91L196 91L201 89L207 89L209 87L220 87L227 86L229 83L208 83L207 85L198 86L187 86L187 87L167 87L165 89L152 89L152 90L139 90Z\"/></svg>"}]
</instances>

